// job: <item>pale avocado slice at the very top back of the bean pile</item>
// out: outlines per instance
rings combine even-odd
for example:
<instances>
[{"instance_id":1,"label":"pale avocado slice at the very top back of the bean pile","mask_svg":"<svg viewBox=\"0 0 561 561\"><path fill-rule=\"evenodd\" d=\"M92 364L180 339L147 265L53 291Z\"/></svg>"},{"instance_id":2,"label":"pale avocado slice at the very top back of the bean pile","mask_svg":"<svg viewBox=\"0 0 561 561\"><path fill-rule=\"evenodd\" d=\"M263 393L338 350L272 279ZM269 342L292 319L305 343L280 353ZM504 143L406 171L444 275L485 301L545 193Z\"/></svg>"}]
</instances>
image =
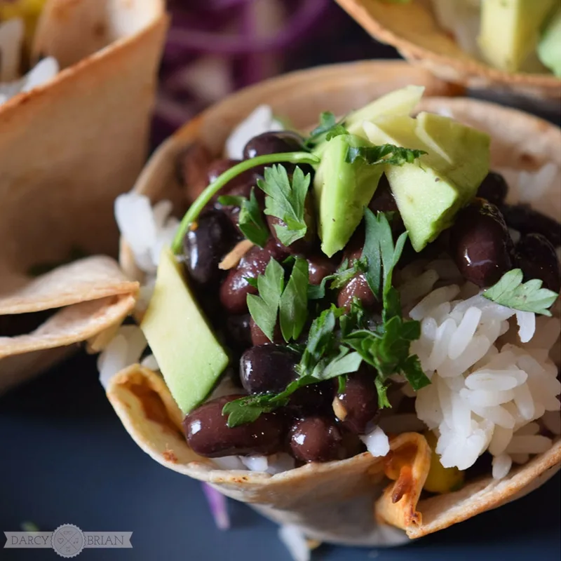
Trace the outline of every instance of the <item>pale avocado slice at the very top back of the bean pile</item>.
<instances>
[{"instance_id":1,"label":"pale avocado slice at the very top back of the bean pile","mask_svg":"<svg viewBox=\"0 0 561 561\"><path fill-rule=\"evenodd\" d=\"M353 111L345 119L346 130L351 135L366 137L363 130L364 121L374 121L383 115L409 115L413 111L425 88L423 86L405 86L386 95L382 95L362 109Z\"/></svg>"}]
</instances>

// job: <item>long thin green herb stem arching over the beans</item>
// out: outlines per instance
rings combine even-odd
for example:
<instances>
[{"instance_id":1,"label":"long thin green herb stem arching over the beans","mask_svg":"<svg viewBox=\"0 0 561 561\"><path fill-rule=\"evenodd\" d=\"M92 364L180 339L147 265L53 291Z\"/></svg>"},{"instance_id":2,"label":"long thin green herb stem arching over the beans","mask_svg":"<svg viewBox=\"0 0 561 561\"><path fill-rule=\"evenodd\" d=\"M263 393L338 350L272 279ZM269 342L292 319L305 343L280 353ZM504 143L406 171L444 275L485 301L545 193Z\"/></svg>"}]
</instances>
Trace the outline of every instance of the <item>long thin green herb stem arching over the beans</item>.
<instances>
[{"instance_id":1,"label":"long thin green herb stem arching over the beans","mask_svg":"<svg viewBox=\"0 0 561 561\"><path fill-rule=\"evenodd\" d=\"M237 175L255 168L257 165L265 165L267 163L319 163L320 158L314 156L309 152L285 152L281 154L265 154L264 156L257 156L250 160L244 160L229 170L226 170L222 175L216 178L206 189L196 198L196 201L189 207L187 213L184 215L180 227L175 234L171 248L175 255L181 252L183 238L189 230L189 226L198 218L205 205L210 199L217 194L228 182L234 179Z\"/></svg>"}]
</instances>

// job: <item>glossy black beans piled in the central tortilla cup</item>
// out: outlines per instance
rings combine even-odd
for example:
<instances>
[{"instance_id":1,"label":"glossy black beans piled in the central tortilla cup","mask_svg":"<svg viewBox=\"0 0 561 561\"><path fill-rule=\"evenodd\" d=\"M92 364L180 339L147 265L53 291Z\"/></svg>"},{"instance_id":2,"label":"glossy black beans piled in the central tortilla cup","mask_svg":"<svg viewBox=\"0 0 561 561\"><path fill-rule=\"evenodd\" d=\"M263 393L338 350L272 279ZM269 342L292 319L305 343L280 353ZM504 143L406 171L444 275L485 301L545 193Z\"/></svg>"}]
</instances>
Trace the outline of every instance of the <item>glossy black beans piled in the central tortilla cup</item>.
<instances>
[{"instance_id":1,"label":"glossy black beans piled in the central tortilla cup","mask_svg":"<svg viewBox=\"0 0 561 561\"><path fill-rule=\"evenodd\" d=\"M247 159L299 151L302 147L302 138L295 133L264 133L250 140L243 154ZM210 162L205 181L212 182L236 163L238 161L224 159ZM293 173L294 165L286 167L289 175ZM305 173L313 174L311 168L304 167ZM262 174L263 168L249 170L227 184L221 194L249 197ZM262 191L256 188L255 194L264 208ZM446 240L447 251L466 280L481 287L492 285L503 273L518 266L527 278L541 278L548 288L559 290L560 270L554 246L561 243L560 225L527 207L506 205L506 194L503 177L489 173L478 191L478 198L459 212L452 229L441 236ZM310 191L306 205L311 217L313 203ZM404 230L385 176L369 208L374 212L393 212L394 234L397 236ZM211 323L231 349L240 385L239 394L210 400L185 417L183 426L187 441L194 452L205 457L276 452L288 452L299 462L351 457L364 450L358 435L374 427L379 413L375 372L370 366L363 365L358 372L349 375L342 392L337 381L300 388L285 407L235 428L227 426L222 408L225 403L247 394L279 393L297 377L299 354L285 346L278 327L270 342L250 317L246 297L257 290L246 279L264 273L271 257L280 261L288 255L299 255L309 263L310 283L317 285L345 260L350 265L360 257L364 245L363 225L343 252L327 259L320 252L313 221L306 238L286 247L274 231L274 225L280 221L266 217L271 237L265 247L253 246L237 266L221 271L219 262L243 239L238 229L238 214L238 207L221 205L215 198L201 213L196 227L184 238L184 260L191 285ZM508 227L520 231L521 238L516 245ZM360 299L372 317L379 313L381 306L368 288L363 273L358 273L332 295L332 302L348 307L354 298ZM305 337L304 333L303 341Z\"/></svg>"}]
</instances>

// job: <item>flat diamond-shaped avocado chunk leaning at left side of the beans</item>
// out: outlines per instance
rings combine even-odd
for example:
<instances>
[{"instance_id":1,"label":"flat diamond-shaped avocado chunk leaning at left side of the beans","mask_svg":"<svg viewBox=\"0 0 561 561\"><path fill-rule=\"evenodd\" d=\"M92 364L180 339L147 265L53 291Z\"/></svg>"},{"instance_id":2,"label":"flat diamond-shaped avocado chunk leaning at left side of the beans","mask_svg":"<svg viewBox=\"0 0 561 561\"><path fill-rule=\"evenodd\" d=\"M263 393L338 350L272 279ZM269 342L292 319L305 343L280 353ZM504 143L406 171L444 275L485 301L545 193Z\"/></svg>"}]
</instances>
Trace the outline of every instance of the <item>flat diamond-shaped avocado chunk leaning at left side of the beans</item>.
<instances>
[{"instance_id":1,"label":"flat diamond-shaped avocado chunk leaning at left side of the beans","mask_svg":"<svg viewBox=\"0 0 561 561\"><path fill-rule=\"evenodd\" d=\"M154 295L140 324L165 384L184 413L201 403L228 364L171 250L163 250Z\"/></svg>"}]
</instances>

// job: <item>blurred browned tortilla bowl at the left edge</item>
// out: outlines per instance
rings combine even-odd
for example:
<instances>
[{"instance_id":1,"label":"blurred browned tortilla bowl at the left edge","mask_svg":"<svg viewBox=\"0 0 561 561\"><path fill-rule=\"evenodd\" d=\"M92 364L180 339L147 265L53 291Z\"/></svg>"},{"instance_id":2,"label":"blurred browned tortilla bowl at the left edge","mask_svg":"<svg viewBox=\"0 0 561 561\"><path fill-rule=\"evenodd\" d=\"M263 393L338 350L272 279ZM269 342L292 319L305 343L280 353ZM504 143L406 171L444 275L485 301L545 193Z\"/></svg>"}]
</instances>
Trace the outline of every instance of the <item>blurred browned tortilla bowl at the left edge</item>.
<instances>
[{"instance_id":1,"label":"blurred browned tortilla bowl at the left edge","mask_svg":"<svg viewBox=\"0 0 561 561\"><path fill-rule=\"evenodd\" d=\"M116 255L113 201L133 185L147 155L166 29L161 0L47 2L32 58L53 55L62 70L43 86L0 105L0 299L26 285L36 265L66 262L76 248L81 255ZM114 266L107 273L113 275L105 279L108 293L113 280L126 280ZM67 279L71 285L74 280ZM134 290L126 291L129 297ZM48 297L47 309L67 305L58 302L56 290ZM95 311L90 306L81 317L86 322L92 312L103 313L105 320L95 329L74 323L65 341L83 341L110 325L109 318L120 321L132 305L122 301L115 308L98 299ZM3 314L29 311L0 305L0 323ZM52 327L34 333L31 346L43 350L29 351L28 340L25 352L31 354L0 358L0 391L72 351L72 346L46 350L57 346ZM15 349L13 342L10 348Z\"/></svg>"}]
</instances>

